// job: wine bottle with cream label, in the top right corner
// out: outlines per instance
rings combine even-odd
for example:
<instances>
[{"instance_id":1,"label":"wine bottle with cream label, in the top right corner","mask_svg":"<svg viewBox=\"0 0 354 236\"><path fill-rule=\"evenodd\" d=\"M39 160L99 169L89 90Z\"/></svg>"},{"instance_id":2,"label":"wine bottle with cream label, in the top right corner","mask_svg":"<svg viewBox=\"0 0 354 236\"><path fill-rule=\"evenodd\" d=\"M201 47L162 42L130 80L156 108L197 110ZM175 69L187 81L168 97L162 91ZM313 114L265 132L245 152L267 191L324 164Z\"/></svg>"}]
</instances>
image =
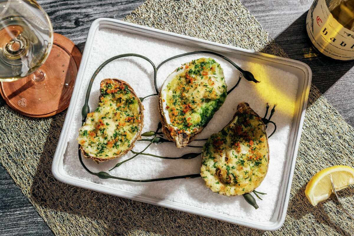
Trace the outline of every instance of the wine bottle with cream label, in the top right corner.
<instances>
[{"instance_id":1,"label":"wine bottle with cream label, in the top right corner","mask_svg":"<svg viewBox=\"0 0 354 236\"><path fill-rule=\"evenodd\" d=\"M314 0L306 18L313 46L325 56L354 59L354 0Z\"/></svg>"}]
</instances>

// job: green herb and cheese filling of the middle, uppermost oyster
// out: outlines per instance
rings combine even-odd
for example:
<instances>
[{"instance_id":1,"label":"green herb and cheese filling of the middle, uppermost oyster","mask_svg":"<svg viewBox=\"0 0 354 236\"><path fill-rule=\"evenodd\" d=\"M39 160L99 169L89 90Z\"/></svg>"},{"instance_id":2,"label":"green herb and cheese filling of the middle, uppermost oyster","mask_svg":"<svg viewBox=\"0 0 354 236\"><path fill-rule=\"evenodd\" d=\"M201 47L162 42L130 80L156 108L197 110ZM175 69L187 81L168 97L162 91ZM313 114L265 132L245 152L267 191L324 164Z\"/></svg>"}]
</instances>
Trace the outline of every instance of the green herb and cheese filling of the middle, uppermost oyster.
<instances>
[{"instance_id":1,"label":"green herb and cheese filling of the middle, uppermost oyster","mask_svg":"<svg viewBox=\"0 0 354 236\"><path fill-rule=\"evenodd\" d=\"M227 96L223 69L212 58L178 67L163 86L162 104L169 123L188 132L204 127Z\"/></svg>"}]
</instances>

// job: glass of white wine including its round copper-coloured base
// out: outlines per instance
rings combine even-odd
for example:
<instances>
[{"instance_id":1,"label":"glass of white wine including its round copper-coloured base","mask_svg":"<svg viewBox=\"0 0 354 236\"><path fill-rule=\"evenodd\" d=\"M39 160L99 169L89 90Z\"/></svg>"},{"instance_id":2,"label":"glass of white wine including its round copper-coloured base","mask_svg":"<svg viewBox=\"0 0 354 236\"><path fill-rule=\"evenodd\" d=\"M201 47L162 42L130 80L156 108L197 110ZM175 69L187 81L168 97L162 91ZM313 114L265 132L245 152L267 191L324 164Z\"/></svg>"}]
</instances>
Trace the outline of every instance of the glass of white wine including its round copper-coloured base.
<instances>
[{"instance_id":1,"label":"glass of white wine including its round copper-coloured base","mask_svg":"<svg viewBox=\"0 0 354 236\"><path fill-rule=\"evenodd\" d=\"M66 109L80 60L36 1L0 0L0 93L11 108L32 117Z\"/></svg>"}]
</instances>

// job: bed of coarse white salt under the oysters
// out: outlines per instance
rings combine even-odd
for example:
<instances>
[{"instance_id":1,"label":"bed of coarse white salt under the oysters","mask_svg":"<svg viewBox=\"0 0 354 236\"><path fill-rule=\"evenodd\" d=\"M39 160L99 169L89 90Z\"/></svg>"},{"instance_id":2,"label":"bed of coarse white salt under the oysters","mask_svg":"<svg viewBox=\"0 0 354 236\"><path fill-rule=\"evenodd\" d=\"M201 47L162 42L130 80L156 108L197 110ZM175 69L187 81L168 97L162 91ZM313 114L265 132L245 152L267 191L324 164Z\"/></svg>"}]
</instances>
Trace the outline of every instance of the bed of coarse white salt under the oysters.
<instances>
[{"instance_id":1,"label":"bed of coarse white salt under the oysters","mask_svg":"<svg viewBox=\"0 0 354 236\"><path fill-rule=\"evenodd\" d=\"M275 134L269 138L270 160L268 174L257 191L265 192L263 201L256 199L259 208L256 210L250 206L242 196L222 196L212 192L205 186L204 180L177 179L153 183L133 183L121 180L102 180L87 173L80 165L78 159L78 144L76 138L81 127L81 108L84 104L85 93L89 80L97 67L110 57L122 53L138 53L147 56L157 66L165 59L177 54L200 50L182 46L167 41L145 38L137 34L130 34L110 29L99 29L93 40L89 53L88 64L85 68L82 87L80 88L80 102L75 109L75 123L69 132L70 138L64 154L64 170L67 174L95 183L113 186L116 189L129 191L138 195L156 198L159 200L170 200L188 206L194 206L209 211L235 216L244 220L269 221L277 206L279 190L282 183L284 163L287 157L287 147L290 140L290 131L295 109L295 99L298 87L298 80L295 75L278 68L257 63L241 61L228 56L244 70L251 71L261 83L242 79L239 86L232 91L217 111L213 119L199 135L199 138L207 138L212 133L221 130L232 119L236 106L240 102L247 102L251 108L260 116L265 113L266 104L270 108L276 104L276 111L272 118L277 125ZM158 87L166 77L172 73L180 64L192 61L200 57L213 57L224 69L227 86L230 89L239 78L239 72L231 64L221 58L209 54L196 54L174 59L164 64L158 71ZM109 63L97 75L93 82L90 108L95 110L98 104L99 83L105 78L118 78L128 82L139 97L156 93L153 84L153 68L144 59L129 57L121 58ZM144 105L144 128L143 132L155 130L159 122L158 98L157 96L146 98ZM269 113L268 113L269 114ZM273 131L269 125L267 132ZM133 150L142 150L148 143L137 141ZM202 141L194 141L192 145L203 145ZM145 152L161 156L181 156L188 152L200 152L200 148L178 149L173 143L162 143L151 145ZM108 171L116 163L131 157L127 154L119 159L110 160L97 164L85 159L85 165L92 171ZM110 172L112 175L131 179L149 179L200 173L200 156L192 160L165 160L150 156L140 155L129 162L124 163Z\"/></svg>"}]
</instances>

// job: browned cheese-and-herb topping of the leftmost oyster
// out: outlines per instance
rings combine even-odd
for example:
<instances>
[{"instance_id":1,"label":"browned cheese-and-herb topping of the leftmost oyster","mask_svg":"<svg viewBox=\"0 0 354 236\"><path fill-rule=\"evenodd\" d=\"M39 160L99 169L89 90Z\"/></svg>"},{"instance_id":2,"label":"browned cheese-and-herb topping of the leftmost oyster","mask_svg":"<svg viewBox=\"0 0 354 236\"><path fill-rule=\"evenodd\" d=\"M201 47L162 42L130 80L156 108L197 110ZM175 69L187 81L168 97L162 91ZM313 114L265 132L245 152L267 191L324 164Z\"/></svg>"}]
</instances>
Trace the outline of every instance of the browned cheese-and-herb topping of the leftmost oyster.
<instances>
[{"instance_id":1,"label":"browned cheese-and-herb topping of the leftmost oyster","mask_svg":"<svg viewBox=\"0 0 354 236\"><path fill-rule=\"evenodd\" d=\"M137 99L127 85L113 80L101 85L98 107L87 114L78 137L88 155L113 157L130 147L141 123Z\"/></svg>"}]
</instances>

